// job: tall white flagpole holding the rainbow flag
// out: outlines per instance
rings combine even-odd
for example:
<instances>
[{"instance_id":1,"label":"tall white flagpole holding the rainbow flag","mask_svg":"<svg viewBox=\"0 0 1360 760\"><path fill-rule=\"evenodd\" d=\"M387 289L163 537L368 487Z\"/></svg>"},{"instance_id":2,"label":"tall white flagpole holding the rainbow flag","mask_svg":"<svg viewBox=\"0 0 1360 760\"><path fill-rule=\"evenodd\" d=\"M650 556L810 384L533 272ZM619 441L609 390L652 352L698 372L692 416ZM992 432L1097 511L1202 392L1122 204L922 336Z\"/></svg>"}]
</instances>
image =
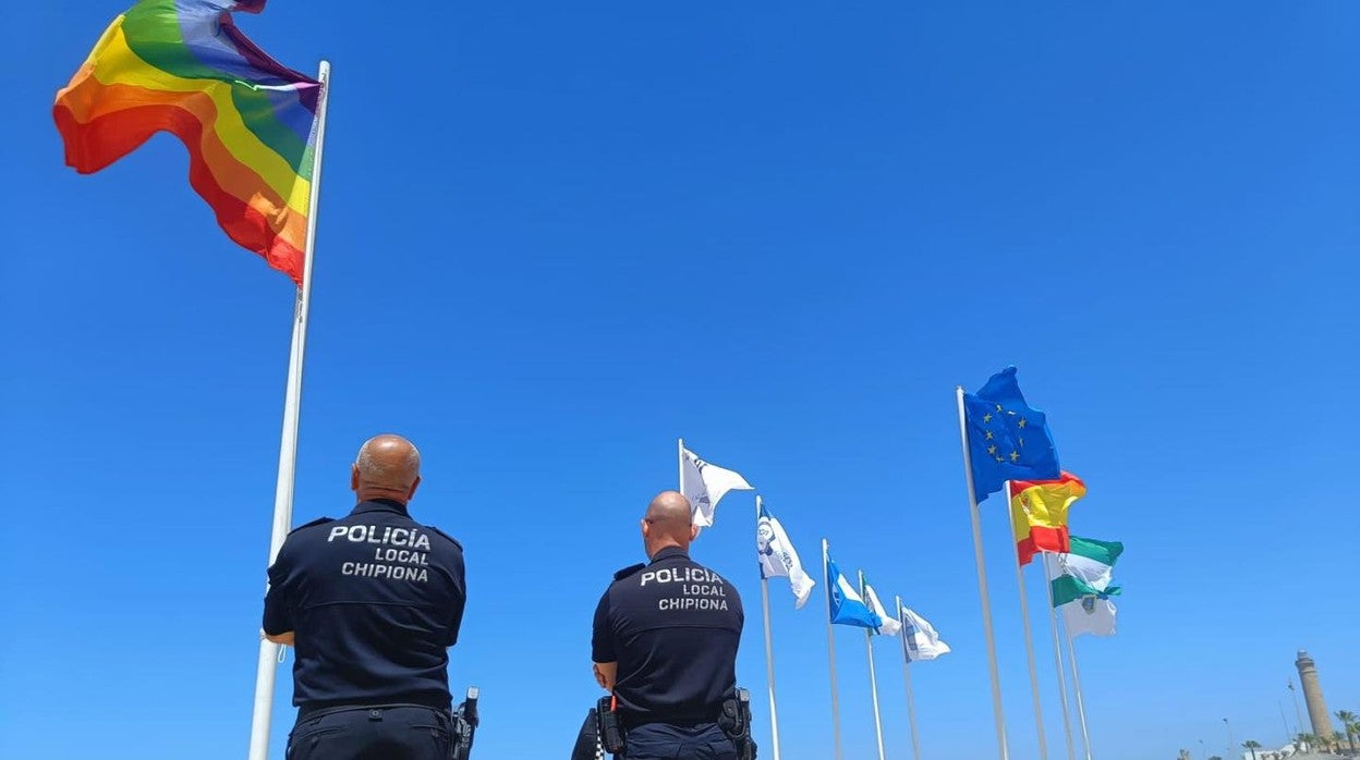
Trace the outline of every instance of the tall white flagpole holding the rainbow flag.
<instances>
[{"instance_id":1,"label":"tall white flagpole holding the rainbow flag","mask_svg":"<svg viewBox=\"0 0 1360 760\"><path fill-rule=\"evenodd\" d=\"M326 103L330 101L330 64L321 61L317 73L321 92L317 99L317 148L311 167L311 198L307 204L307 242L302 260L302 287L294 306L292 343L288 349L288 381L283 397L283 439L279 445L279 480L273 494L273 526L269 533L269 564L273 564L283 540L292 529L292 484L298 462L298 421L302 412L302 359L307 347L307 310L311 302L311 264L317 250L317 218L321 198L321 152L326 137ZM268 581L265 590L268 590ZM273 715L273 687L279 674L279 644L260 638L256 663L254 708L250 714L249 760L269 755L269 722Z\"/></svg>"}]
</instances>

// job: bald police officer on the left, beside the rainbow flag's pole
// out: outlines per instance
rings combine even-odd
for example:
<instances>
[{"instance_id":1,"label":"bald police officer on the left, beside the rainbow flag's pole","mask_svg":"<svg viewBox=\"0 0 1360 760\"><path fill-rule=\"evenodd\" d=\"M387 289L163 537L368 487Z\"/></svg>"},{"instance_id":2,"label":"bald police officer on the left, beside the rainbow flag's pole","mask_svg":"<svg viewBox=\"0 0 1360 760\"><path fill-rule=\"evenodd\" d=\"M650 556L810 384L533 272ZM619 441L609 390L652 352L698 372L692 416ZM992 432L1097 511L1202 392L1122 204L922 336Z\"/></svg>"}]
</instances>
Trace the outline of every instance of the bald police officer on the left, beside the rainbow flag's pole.
<instances>
[{"instance_id":1,"label":"bald police officer on the left, beside the rainbow flag's pole","mask_svg":"<svg viewBox=\"0 0 1360 760\"><path fill-rule=\"evenodd\" d=\"M449 653L466 602L462 547L411 519L420 453L359 449L358 506L288 534L269 568L264 634L296 647L288 760L445 760Z\"/></svg>"}]
</instances>

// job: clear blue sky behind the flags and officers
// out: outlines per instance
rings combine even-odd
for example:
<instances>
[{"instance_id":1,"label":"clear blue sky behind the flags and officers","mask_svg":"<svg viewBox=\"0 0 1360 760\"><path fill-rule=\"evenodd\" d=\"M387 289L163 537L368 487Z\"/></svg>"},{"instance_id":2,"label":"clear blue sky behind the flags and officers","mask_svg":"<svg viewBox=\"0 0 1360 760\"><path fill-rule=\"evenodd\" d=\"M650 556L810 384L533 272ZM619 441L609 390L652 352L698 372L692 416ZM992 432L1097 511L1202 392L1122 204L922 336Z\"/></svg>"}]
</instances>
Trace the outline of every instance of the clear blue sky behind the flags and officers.
<instances>
[{"instance_id":1,"label":"clear blue sky behind the flags and officers","mask_svg":"<svg viewBox=\"0 0 1360 760\"><path fill-rule=\"evenodd\" d=\"M292 287L218 230L173 139L63 166L53 94L122 1L0 8L0 756L237 759ZM369 435L422 447L413 513L466 545L450 676L483 689L479 757L567 756L590 613L641 559L679 435L813 566L826 536L940 628L922 745L993 756L953 387L1008 363L1089 487L1074 530L1127 545L1119 635L1078 642L1102 760L1224 753L1224 716L1278 745L1300 647L1360 711L1360 5L1013 5L242 20L335 65L296 522L350 508ZM760 695L752 503L729 496L695 555L745 597ZM997 504L1005 704L1035 757ZM786 756L824 759L821 589L801 612L771 593ZM877 651L906 757L900 658ZM862 636L836 655L862 760ZM767 719L759 700L763 748Z\"/></svg>"}]
</instances>

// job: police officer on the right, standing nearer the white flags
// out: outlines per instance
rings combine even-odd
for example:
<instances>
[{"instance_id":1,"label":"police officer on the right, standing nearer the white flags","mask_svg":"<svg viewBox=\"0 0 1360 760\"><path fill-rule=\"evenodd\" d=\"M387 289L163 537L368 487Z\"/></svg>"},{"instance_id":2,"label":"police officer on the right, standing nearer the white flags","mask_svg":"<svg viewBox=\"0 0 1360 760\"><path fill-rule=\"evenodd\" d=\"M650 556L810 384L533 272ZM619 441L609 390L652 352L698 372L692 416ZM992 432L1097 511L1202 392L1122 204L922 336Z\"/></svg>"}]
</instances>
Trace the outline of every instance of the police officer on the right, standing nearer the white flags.
<instances>
[{"instance_id":1,"label":"police officer on the right, standing nearer the white flags","mask_svg":"<svg viewBox=\"0 0 1360 760\"><path fill-rule=\"evenodd\" d=\"M690 559L695 536L690 502L660 494L642 518L651 563L615 574L596 608L596 681L613 692L627 760L737 759L718 718L745 616L737 589Z\"/></svg>"}]
</instances>

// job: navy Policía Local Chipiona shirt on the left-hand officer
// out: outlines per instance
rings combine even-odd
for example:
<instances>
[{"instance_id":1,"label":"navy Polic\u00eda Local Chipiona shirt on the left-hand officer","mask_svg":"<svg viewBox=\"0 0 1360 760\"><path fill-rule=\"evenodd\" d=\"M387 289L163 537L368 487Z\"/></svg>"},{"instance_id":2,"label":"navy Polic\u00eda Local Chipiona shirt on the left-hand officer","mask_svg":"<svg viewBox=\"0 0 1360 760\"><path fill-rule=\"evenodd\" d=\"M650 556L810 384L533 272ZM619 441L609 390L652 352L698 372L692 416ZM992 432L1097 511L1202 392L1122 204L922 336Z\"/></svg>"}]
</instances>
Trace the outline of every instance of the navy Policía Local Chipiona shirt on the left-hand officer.
<instances>
[{"instance_id":1,"label":"navy Polic\u00eda Local Chipiona shirt on the left-hand officer","mask_svg":"<svg viewBox=\"0 0 1360 760\"><path fill-rule=\"evenodd\" d=\"M378 499L288 534L269 568L264 629L296 632L292 704L303 710L446 710L466 598L462 547Z\"/></svg>"}]
</instances>

